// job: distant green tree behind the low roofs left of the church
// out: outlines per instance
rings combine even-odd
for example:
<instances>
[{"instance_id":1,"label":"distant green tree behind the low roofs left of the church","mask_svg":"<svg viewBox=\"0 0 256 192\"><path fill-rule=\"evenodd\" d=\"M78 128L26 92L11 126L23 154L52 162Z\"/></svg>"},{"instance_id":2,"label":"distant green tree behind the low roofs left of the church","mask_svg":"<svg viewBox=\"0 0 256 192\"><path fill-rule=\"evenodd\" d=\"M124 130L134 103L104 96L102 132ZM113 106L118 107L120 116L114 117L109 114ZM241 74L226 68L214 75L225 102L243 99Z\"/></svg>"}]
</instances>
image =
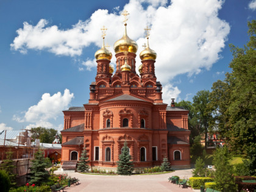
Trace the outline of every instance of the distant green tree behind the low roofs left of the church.
<instances>
[{"instance_id":1,"label":"distant green tree behind the low roofs left of the church","mask_svg":"<svg viewBox=\"0 0 256 192\"><path fill-rule=\"evenodd\" d=\"M38 138L41 143L52 143L55 139L55 135L57 134L57 130L45 127L35 127L32 128L30 132L32 133L33 140Z\"/></svg>"}]
</instances>

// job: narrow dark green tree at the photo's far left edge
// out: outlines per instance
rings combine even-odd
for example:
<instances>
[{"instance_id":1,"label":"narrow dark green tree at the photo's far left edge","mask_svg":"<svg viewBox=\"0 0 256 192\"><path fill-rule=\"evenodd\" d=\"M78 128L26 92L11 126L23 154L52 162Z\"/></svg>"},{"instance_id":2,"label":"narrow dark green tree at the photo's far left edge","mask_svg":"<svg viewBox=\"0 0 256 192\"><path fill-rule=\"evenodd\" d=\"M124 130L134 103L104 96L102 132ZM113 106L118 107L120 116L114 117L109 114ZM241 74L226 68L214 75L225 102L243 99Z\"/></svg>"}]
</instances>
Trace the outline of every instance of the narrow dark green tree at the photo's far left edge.
<instances>
[{"instance_id":1,"label":"narrow dark green tree at the photo's far left edge","mask_svg":"<svg viewBox=\"0 0 256 192\"><path fill-rule=\"evenodd\" d=\"M6 158L2 161L0 168L4 170L9 178L10 178L10 185L11 187L15 187L16 185L16 174L14 173L14 169L16 166L14 165L14 162L12 160L12 149L9 149L7 152L5 152Z\"/></svg>"}]
</instances>

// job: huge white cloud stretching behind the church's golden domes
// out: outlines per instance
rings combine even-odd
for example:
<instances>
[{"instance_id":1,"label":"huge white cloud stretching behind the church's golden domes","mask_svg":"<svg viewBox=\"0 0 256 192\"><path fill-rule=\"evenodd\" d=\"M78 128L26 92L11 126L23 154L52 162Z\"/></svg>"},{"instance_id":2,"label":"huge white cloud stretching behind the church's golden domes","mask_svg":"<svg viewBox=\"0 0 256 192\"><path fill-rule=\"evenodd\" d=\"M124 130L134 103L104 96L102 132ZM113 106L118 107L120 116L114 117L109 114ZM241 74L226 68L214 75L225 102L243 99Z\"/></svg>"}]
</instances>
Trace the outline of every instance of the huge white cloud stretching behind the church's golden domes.
<instances>
[{"instance_id":1,"label":"huge white cloud stretching behind the church's golden domes","mask_svg":"<svg viewBox=\"0 0 256 192\"><path fill-rule=\"evenodd\" d=\"M201 73L202 69L210 69L217 62L220 52L225 46L230 31L229 24L218 18L224 0L130 0L124 9L130 15L127 21L127 33L138 43L137 68L140 65L138 55L142 51L144 27L151 24L149 43L157 52L155 74L163 85L168 84L178 74ZM143 5L142 5L143 4ZM120 12L118 12L120 10ZM120 7L108 10L98 9L86 21L79 21L70 29L59 29L50 26L48 21L40 20L32 26L24 22L17 30L11 48L23 53L27 49L46 50L56 55L81 56L91 44L99 48L102 45L102 26L107 27L106 43L113 45L122 37L124 27ZM118 12L118 13L116 13ZM115 63L115 52L112 63ZM88 55L86 56L88 57ZM95 60L82 62L90 71L96 66ZM81 64L81 63L80 63Z\"/></svg>"}]
</instances>

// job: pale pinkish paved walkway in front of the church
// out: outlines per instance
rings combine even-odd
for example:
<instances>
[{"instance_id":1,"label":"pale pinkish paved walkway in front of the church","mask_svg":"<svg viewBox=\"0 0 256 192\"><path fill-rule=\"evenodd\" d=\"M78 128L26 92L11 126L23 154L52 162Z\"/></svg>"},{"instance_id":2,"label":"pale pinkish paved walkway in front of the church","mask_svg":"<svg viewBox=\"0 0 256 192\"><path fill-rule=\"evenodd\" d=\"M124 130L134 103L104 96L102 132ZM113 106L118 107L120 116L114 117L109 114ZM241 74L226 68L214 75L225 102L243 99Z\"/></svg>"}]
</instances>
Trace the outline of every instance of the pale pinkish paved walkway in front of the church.
<instances>
[{"instance_id":1,"label":"pale pinkish paved walkway in front of the church","mask_svg":"<svg viewBox=\"0 0 256 192\"><path fill-rule=\"evenodd\" d=\"M79 185L66 187L64 191L169 191L186 192L199 191L191 188L182 188L168 182L171 176L188 179L192 176L192 169L177 170L168 174L159 175L133 175L133 176L99 176L69 172L68 176L78 178ZM55 174L61 172L55 171Z\"/></svg>"}]
</instances>

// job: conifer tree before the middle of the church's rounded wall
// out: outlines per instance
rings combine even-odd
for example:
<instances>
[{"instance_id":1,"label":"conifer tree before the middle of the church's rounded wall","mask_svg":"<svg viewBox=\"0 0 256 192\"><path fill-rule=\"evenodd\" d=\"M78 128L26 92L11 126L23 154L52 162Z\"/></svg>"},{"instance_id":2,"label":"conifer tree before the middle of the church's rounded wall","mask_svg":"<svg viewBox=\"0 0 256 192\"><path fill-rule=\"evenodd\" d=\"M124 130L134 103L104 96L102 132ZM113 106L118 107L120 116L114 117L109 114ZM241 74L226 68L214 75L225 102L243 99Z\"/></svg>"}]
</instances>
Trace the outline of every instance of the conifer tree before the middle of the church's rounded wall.
<instances>
[{"instance_id":1,"label":"conifer tree before the middle of the church's rounded wall","mask_svg":"<svg viewBox=\"0 0 256 192\"><path fill-rule=\"evenodd\" d=\"M132 157L129 154L129 148L127 147L127 143L124 143L124 147L122 149L122 153L119 155L118 163L118 174L119 175L131 175L134 170L133 161L131 161Z\"/></svg>"}]
</instances>

